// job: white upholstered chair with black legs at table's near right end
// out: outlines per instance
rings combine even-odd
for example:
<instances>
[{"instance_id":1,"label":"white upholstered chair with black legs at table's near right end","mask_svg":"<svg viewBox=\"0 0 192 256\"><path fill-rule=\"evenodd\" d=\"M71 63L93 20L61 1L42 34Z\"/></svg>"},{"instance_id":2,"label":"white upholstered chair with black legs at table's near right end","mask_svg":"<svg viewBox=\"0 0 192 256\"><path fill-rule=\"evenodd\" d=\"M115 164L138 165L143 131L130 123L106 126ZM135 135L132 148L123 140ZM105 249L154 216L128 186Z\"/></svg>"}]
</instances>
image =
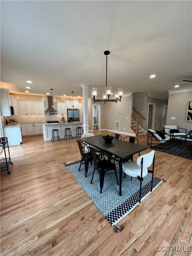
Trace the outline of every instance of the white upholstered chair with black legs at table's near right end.
<instances>
[{"instance_id":1,"label":"white upholstered chair with black legs at table's near right end","mask_svg":"<svg viewBox=\"0 0 192 256\"><path fill-rule=\"evenodd\" d=\"M150 153L142 155L137 158L137 162L126 162L123 164L123 172L134 178L140 180L140 193L139 193L139 203L141 202L141 190L142 190L142 180L143 177L147 175L148 172L152 173L151 180L151 192L153 189L153 174L154 174L154 161L155 161L155 151L152 150ZM153 169L148 170L147 168L153 163Z\"/></svg>"}]
</instances>

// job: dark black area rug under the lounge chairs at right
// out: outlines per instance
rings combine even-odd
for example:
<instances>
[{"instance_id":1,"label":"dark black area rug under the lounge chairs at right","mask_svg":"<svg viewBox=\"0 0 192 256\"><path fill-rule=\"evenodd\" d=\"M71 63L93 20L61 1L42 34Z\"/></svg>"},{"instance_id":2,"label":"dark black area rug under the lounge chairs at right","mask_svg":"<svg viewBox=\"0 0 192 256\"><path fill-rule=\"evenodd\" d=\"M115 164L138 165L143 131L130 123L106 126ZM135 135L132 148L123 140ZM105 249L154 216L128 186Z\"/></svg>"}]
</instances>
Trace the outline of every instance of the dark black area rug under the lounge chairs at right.
<instances>
[{"instance_id":1,"label":"dark black area rug under the lounge chairs at right","mask_svg":"<svg viewBox=\"0 0 192 256\"><path fill-rule=\"evenodd\" d=\"M187 159L192 160L192 141L187 140L181 140L181 146L180 146L180 139L172 139L171 140L171 146L169 149L169 142L165 142L163 144L158 144L157 146L153 147L153 149L175 155L184 157Z\"/></svg>"}]
</instances>

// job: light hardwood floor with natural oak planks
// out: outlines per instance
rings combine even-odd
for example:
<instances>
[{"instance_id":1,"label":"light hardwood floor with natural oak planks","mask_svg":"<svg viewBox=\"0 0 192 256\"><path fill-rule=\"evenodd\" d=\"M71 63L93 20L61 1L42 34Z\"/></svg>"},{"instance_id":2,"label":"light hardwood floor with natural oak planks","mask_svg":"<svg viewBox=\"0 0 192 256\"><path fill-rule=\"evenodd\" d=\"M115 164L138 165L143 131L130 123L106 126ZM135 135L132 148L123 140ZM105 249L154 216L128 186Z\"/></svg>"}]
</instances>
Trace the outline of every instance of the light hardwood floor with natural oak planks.
<instances>
[{"instance_id":1,"label":"light hardwood floor with natural oak planks","mask_svg":"<svg viewBox=\"0 0 192 256\"><path fill-rule=\"evenodd\" d=\"M192 244L191 160L156 151L155 176L167 182L120 221L116 234L63 165L80 159L76 139L24 137L10 153L11 174L1 173L1 256L174 255L155 246Z\"/></svg>"}]
</instances>

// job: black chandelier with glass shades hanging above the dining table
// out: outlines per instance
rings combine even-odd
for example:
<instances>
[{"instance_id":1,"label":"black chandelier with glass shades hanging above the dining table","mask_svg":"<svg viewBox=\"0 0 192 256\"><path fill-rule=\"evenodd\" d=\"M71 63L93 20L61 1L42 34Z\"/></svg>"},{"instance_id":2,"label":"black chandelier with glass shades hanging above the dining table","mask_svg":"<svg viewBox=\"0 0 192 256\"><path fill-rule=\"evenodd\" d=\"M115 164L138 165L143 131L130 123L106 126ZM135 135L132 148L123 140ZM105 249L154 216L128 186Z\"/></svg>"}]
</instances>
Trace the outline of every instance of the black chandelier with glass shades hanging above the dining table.
<instances>
[{"instance_id":1,"label":"black chandelier with glass shades hanging above the dining table","mask_svg":"<svg viewBox=\"0 0 192 256\"><path fill-rule=\"evenodd\" d=\"M121 102L121 97L123 96L123 88L118 88L118 92L115 92L115 99L110 99L110 96L112 95L111 93L111 86L107 86L107 55L110 54L110 51L104 51L104 54L106 55L106 92L103 93L103 99L96 99L97 98L97 88L92 88L92 99L93 102L97 101L113 101L116 102L120 101Z\"/></svg>"}]
</instances>

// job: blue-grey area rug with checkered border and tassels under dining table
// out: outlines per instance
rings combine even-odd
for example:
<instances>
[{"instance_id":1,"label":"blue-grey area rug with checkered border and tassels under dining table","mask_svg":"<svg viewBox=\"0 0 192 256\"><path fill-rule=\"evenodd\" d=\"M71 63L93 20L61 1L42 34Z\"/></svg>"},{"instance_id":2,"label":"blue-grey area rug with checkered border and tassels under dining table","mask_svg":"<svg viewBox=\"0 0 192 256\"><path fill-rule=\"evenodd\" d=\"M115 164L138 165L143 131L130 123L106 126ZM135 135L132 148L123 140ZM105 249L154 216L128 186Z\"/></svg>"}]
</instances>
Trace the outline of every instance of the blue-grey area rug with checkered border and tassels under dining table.
<instances>
[{"instance_id":1,"label":"blue-grey area rug with checkered border and tassels under dining table","mask_svg":"<svg viewBox=\"0 0 192 256\"><path fill-rule=\"evenodd\" d=\"M99 174L97 171L95 171L93 182L90 184L94 168L93 165L89 164L86 178L85 165L81 165L81 170L78 171L80 160L64 163L64 165L75 177L85 193L91 198L99 211L105 216L109 223L114 226L115 232L119 232L121 228L116 224L139 204L140 181L137 178L133 178L131 181L130 177L127 175L126 178L123 177L122 196L119 196L119 186L116 182L115 172L108 171L105 175L102 194L100 194ZM117 162L116 168L119 174L119 165ZM153 189L161 182L161 179L154 177ZM141 200L151 193L150 188L151 175L148 174L142 181Z\"/></svg>"}]
</instances>

